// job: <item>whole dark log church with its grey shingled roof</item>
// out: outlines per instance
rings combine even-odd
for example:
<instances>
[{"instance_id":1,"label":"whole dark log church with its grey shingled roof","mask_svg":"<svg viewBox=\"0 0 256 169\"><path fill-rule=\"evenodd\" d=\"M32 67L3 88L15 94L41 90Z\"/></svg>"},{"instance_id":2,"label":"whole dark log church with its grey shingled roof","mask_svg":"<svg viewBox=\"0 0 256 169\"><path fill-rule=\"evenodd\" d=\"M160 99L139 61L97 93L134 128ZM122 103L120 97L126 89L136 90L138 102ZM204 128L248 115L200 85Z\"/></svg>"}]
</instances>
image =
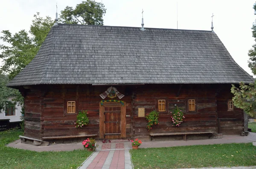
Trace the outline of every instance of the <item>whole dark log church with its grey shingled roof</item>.
<instances>
[{"instance_id":1,"label":"whole dark log church with its grey shingled roof","mask_svg":"<svg viewBox=\"0 0 256 169\"><path fill-rule=\"evenodd\" d=\"M143 24L144 25L144 24ZM213 29L213 27L212 27ZM9 84L24 96L35 140L195 139L244 131L231 84L253 77L212 31L59 24ZM172 125L172 109L185 119ZM89 124L76 128L79 111ZM145 116L159 112L147 129Z\"/></svg>"}]
</instances>

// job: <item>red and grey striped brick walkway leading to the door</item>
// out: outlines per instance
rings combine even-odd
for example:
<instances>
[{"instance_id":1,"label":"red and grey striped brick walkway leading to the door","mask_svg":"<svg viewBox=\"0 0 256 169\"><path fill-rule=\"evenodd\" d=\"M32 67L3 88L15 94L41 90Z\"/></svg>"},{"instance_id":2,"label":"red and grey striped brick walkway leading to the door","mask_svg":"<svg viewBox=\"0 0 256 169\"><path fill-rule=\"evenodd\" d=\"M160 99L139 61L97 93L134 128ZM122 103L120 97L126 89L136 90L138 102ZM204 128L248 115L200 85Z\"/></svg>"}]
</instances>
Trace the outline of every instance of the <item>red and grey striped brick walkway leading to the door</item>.
<instances>
[{"instance_id":1,"label":"red and grey striped brick walkway leading to the door","mask_svg":"<svg viewBox=\"0 0 256 169\"><path fill-rule=\"evenodd\" d=\"M130 142L105 143L79 169L132 169Z\"/></svg>"}]
</instances>

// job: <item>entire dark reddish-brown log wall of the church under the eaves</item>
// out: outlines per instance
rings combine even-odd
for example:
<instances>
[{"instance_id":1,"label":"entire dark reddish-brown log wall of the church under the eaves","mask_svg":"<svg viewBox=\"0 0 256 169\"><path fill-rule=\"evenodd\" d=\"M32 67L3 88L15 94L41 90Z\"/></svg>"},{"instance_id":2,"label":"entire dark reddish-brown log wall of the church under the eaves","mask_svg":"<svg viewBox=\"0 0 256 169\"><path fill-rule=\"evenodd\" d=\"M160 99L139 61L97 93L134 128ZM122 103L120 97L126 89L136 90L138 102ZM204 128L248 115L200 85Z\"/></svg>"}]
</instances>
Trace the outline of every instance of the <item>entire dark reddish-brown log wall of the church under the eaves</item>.
<instances>
[{"instance_id":1,"label":"entire dark reddish-brown log wall of the church under the eaves","mask_svg":"<svg viewBox=\"0 0 256 169\"><path fill-rule=\"evenodd\" d=\"M25 96L25 136L42 137L98 134L99 96L110 86L91 85L45 85L31 86ZM218 125L223 134L239 134L243 115L241 109L228 112L227 102L232 99L230 85L126 85L115 86L125 97L117 100L126 102L126 137L149 138L149 133L163 132L214 132ZM229 88L229 89L228 89ZM186 112L187 99L196 99L196 112ZM77 100L79 110L87 110L90 122L75 128L76 114L65 114L65 100ZM105 100L109 99L108 97ZM160 112L159 125L148 131L145 117L138 117L138 108L145 108L145 115L157 109L157 99L165 99L166 112ZM175 105L184 109L186 117L180 127L172 126L171 111ZM227 123L217 118L233 118Z\"/></svg>"}]
</instances>

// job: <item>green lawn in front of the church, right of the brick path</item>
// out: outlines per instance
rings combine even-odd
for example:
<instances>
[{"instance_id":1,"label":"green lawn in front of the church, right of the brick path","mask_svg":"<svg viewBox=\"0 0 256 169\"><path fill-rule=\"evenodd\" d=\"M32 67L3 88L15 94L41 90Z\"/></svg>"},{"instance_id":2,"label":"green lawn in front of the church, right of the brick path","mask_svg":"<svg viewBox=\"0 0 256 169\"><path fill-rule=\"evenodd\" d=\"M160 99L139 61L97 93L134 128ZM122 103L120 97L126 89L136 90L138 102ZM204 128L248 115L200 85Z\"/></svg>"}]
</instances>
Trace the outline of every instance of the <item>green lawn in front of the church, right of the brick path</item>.
<instances>
[{"instance_id":1,"label":"green lawn in front of the church, right of the brick path","mask_svg":"<svg viewBox=\"0 0 256 169\"><path fill-rule=\"evenodd\" d=\"M134 169L256 166L256 146L232 143L130 150Z\"/></svg>"}]
</instances>

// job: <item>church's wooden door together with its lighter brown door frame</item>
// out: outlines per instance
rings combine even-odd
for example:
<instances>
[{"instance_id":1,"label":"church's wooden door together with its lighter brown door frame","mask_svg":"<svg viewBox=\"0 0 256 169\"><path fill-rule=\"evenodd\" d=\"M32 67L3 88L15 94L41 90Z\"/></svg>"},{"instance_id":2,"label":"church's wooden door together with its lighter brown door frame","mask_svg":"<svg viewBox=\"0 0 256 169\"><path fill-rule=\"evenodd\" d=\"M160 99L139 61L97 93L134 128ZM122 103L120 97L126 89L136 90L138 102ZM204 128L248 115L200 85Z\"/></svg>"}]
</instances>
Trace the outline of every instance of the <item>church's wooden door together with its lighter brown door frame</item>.
<instances>
[{"instance_id":1,"label":"church's wooden door together with its lighter brown door frame","mask_svg":"<svg viewBox=\"0 0 256 169\"><path fill-rule=\"evenodd\" d=\"M117 139L126 137L126 106L121 103L106 102L99 105L99 137Z\"/></svg>"}]
</instances>

